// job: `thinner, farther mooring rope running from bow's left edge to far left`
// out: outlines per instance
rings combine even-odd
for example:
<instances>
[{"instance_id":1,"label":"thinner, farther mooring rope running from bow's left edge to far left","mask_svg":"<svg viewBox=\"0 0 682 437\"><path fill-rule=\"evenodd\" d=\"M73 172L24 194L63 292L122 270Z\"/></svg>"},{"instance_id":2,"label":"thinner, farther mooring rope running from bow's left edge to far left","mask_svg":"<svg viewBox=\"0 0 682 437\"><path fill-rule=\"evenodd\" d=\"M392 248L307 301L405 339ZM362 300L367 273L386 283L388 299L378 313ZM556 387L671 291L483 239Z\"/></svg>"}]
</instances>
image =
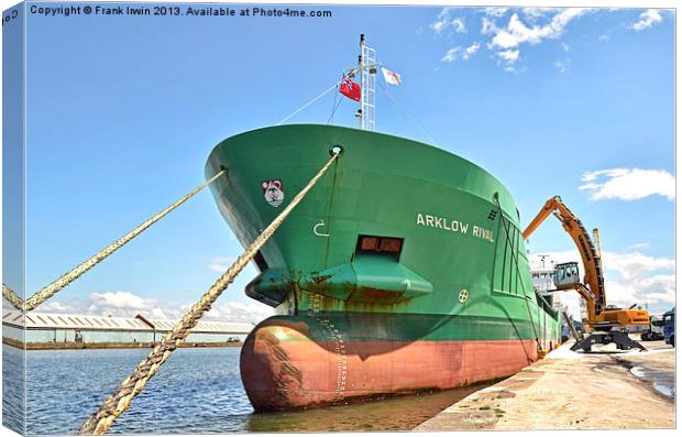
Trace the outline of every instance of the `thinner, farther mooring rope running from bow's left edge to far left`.
<instances>
[{"instance_id":1,"label":"thinner, farther mooring rope running from bow's left edge to far left","mask_svg":"<svg viewBox=\"0 0 682 437\"><path fill-rule=\"evenodd\" d=\"M62 288L64 288L72 282L76 281L78 277L82 276L87 271L89 271L95 265L97 265L98 263L107 259L110 254L112 254L113 252L116 252L117 250L125 245L130 240L141 234L145 229L147 229L148 227L151 227L152 225L154 225L155 222L164 218L166 215L168 215L168 212L173 211L175 208L183 205L186 200L188 200L190 197L199 193L201 189L206 188L208 185L210 185L213 181L219 178L224 173L226 173L224 170L218 172L213 177L206 181L204 184L199 185L198 187L196 187L195 189L193 189L185 196L180 197L173 205L168 206L167 208L165 208L164 210L162 210L161 212L158 212L157 215L155 215L154 217L152 217L144 223L140 225L132 231L128 232L125 236L121 237L120 239L116 240L114 242L112 242L111 244L102 249L100 252L96 253L95 255L90 256L88 260L78 264L76 267L74 267L69 272L59 276L52 284L47 285L40 292L35 293L33 296L29 297L29 299L26 299L25 310L30 312L30 310L35 309L43 302L47 301L48 298L54 296L58 291L61 291ZM2 288L2 294L4 295L4 287Z\"/></svg>"}]
</instances>

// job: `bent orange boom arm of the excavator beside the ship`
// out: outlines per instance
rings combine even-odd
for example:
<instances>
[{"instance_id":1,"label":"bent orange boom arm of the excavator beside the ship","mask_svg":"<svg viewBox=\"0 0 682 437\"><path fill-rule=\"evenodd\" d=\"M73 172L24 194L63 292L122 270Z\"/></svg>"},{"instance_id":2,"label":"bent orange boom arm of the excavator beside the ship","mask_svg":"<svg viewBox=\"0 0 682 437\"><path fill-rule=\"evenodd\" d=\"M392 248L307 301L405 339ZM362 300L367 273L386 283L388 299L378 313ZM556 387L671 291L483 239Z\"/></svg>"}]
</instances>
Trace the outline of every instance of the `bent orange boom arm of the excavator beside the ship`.
<instances>
[{"instance_id":1,"label":"bent orange boom arm of the excavator beside the ship","mask_svg":"<svg viewBox=\"0 0 682 437\"><path fill-rule=\"evenodd\" d=\"M550 215L553 215L561 222L561 226L571 236L580 251L583 265L585 266L583 283L588 288L579 284L580 286L576 287L576 291L587 304L587 321L594 325L597 321L598 315L606 308L602 258L597 253L583 223L563 204L561 197L554 196L544 203L536 218L532 219L524 231L524 240L527 240Z\"/></svg>"}]
</instances>

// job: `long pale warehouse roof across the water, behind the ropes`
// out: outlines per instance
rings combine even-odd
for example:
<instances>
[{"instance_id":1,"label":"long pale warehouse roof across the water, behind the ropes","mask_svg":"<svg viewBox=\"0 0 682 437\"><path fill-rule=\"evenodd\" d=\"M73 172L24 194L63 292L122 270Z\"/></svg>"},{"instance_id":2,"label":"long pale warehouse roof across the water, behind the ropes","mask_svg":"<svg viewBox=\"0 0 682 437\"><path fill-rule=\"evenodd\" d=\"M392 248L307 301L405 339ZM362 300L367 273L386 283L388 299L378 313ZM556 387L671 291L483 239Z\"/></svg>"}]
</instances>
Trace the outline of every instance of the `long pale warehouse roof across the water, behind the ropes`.
<instances>
[{"instance_id":1,"label":"long pale warehouse roof across the water, behind the ropes","mask_svg":"<svg viewBox=\"0 0 682 437\"><path fill-rule=\"evenodd\" d=\"M18 310L3 309L2 324L28 329L82 329L82 330L154 330L167 331L176 324L175 320L160 318L105 317L73 314L29 313L25 317ZM248 334L253 324L234 321L199 321L193 332L211 334Z\"/></svg>"}]
</instances>

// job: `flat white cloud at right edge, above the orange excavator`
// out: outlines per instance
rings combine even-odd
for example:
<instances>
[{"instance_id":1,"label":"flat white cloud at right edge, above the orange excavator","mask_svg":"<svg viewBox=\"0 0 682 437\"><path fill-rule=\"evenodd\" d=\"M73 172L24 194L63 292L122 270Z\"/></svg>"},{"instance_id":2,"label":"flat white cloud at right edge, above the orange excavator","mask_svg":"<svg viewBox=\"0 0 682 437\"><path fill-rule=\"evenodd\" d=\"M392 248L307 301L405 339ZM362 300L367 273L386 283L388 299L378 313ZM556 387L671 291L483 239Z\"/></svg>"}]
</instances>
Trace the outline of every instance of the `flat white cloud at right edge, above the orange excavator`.
<instances>
[{"instance_id":1,"label":"flat white cloud at right edge, above the orange excavator","mask_svg":"<svg viewBox=\"0 0 682 437\"><path fill-rule=\"evenodd\" d=\"M662 170L609 168L585 173L581 190L590 192L591 200L636 200L648 196L675 198L675 178Z\"/></svg>"}]
</instances>

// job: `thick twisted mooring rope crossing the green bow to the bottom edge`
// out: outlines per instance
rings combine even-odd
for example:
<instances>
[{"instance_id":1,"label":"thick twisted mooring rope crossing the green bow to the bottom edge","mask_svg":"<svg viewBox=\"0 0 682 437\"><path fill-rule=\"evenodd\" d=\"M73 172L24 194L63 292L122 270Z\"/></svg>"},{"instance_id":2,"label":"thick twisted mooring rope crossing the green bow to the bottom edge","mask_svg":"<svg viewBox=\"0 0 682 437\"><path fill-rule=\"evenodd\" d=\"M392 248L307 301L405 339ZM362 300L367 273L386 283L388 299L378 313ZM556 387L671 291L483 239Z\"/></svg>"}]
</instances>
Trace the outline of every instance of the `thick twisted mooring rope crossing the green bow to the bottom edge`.
<instances>
[{"instance_id":1,"label":"thick twisted mooring rope crossing the green bow to the bottom edge","mask_svg":"<svg viewBox=\"0 0 682 437\"><path fill-rule=\"evenodd\" d=\"M277 230L279 225L287 218L289 212L302 200L310 188L322 177L324 172L331 166L339 156L333 153L329 162L310 179L308 185L304 187L292 199L292 203L265 228L265 230L251 243L251 245L242 253L237 261L228 269L213 285L201 296L189 312L178 321L170 331L168 331L161 342L150 352L148 356L125 379L114 394L107 397L100 408L90 418L82 424L78 434L81 435L102 435L109 429L117 417L119 417L130 406L133 397L135 397L143 389L147 381L156 374L160 367L170 357L170 353L177 349L178 345L187 337L189 330L194 328L199 319L211 309L211 305L216 302L222 292L230 285L234 277L244 269L244 266L255 256L256 252L265 244L265 242Z\"/></svg>"}]
</instances>

